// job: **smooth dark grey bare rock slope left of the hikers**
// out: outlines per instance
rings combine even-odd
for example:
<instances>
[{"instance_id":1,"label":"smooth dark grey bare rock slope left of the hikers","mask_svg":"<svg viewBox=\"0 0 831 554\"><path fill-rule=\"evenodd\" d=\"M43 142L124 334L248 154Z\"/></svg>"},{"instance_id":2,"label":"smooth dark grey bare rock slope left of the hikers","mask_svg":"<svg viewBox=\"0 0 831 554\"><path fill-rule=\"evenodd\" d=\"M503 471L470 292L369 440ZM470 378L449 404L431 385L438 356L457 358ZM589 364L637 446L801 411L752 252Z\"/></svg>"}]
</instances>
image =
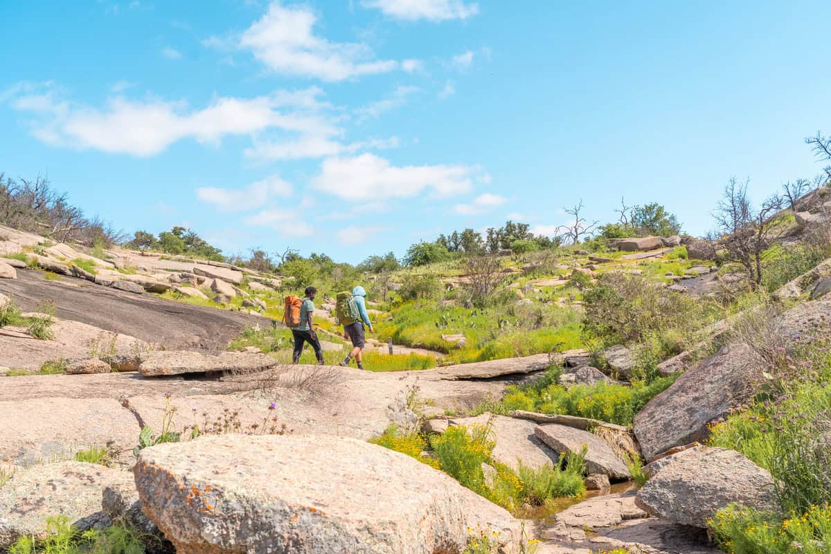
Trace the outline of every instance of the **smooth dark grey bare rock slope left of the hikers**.
<instances>
[{"instance_id":1,"label":"smooth dark grey bare rock slope left of the hikers","mask_svg":"<svg viewBox=\"0 0 831 554\"><path fill-rule=\"evenodd\" d=\"M42 272L32 270L21 269L17 279L0 280L0 292L11 296L23 311L54 301L61 319L117 330L167 348L216 349L245 326L269 325L258 316L122 292L73 277L47 281Z\"/></svg>"}]
</instances>

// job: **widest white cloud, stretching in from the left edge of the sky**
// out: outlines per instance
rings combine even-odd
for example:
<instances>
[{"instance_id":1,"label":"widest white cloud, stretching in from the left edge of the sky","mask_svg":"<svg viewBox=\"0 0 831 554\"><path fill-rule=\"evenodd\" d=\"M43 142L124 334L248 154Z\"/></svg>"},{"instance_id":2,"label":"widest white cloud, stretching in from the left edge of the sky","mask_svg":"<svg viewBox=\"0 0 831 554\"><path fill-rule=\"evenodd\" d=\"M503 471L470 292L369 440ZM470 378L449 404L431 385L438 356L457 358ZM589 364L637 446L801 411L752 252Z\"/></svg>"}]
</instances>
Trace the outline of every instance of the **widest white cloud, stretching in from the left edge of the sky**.
<instances>
[{"instance_id":1,"label":"widest white cloud, stretching in from the left edge of the sky","mask_svg":"<svg viewBox=\"0 0 831 554\"><path fill-rule=\"evenodd\" d=\"M317 100L320 93L312 88L250 99L219 97L201 110L188 110L183 101L132 101L115 96L105 108L94 108L62 100L47 87L46 91L24 90L11 105L37 116L32 132L49 144L150 156L185 138L215 144L224 135L272 129L300 135L337 134L341 130L307 109L322 105Z\"/></svg>"}]
</instances>

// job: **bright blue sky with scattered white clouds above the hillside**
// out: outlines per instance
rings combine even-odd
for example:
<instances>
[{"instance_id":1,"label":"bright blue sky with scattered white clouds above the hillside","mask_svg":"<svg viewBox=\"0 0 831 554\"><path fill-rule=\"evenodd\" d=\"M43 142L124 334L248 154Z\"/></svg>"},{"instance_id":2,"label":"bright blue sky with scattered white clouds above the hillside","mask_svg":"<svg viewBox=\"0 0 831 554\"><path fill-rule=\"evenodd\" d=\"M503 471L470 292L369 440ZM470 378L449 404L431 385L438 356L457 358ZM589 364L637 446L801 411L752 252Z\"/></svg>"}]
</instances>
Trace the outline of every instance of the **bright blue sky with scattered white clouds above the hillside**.
<instances>
[{"instance_id":1,"label":"bright blue sky with scattered white clouds above the hillside","mask_svg":"<svg viewBox=\"0 0 831 554\"><path fill-rule=\"evenodd\" d=\"M722 5L719 5L722 4ZM205 9L209 5L210 9ZM820 166L831 2L2 2L0 172L225 252L357 262Z\"/></svg>"}]
</instances>

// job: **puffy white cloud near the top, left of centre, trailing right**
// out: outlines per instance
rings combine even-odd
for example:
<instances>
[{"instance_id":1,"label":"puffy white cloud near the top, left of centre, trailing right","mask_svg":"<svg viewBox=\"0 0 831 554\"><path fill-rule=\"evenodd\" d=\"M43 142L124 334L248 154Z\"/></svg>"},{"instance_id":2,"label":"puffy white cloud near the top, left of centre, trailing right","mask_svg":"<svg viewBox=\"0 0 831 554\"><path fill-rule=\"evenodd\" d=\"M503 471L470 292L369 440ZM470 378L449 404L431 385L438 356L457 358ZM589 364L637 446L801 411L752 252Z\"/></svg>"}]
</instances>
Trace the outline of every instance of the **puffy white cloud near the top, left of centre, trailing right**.
<instances>
[{"instance_id":1,"label":"puffy white cloud near the top, left of centre, trailing right","mask_svg":"<svg viewBox=\"0 0 831 554\"><path fill-rule=\"evenodd\" d=\"M268 12L238 38L236 47L273 71L294 76L342 81L351 77L386 73L398 68L394 60L373 59L371 49L357 42L329 42L314 34L317 16L310 7L283 7L275 0ZM224 39L208 43L222 47Z\"/></svg>"}]
</instances>

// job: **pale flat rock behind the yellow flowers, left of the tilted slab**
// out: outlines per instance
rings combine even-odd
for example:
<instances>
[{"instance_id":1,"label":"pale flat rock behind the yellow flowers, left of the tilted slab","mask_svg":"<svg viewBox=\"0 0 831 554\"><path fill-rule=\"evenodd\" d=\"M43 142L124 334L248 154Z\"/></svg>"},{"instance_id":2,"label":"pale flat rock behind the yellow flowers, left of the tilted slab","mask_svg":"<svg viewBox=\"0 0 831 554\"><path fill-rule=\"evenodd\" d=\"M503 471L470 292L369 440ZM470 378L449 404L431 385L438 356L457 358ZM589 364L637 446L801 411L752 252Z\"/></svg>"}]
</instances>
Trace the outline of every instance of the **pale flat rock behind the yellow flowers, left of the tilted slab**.
<instances>
[{"instance_id":1,"label":"pale flat rock behind the yellow flowers, left of the tilted slab","mask_svg":"<svg viewBox=\"0 0 831 554\"><path fill-rule=\"evenodd\" d=\"M494 459L514 470L519 463L538 468L546 463L558 463L559 453L548 448L534 434L537 424L527 419L514 419L504 415L481 414L475 418L450 419L451 425L489 425L494 432L496 446Z\"/></svg>"}]
</instances>

